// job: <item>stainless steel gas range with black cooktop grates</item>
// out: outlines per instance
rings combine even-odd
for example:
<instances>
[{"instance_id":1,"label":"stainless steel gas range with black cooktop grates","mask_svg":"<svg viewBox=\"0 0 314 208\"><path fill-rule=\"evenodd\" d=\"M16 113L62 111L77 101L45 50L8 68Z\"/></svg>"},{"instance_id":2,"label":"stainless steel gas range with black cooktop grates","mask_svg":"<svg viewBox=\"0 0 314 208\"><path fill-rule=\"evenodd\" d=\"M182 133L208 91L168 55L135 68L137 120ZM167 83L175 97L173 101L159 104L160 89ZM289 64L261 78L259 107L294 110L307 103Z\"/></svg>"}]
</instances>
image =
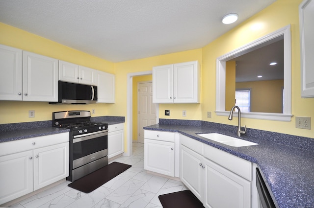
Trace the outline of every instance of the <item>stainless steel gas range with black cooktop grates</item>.
<instances>
[{"instance_id":1,"label":"stainless steel gas range with black cooktop grates","mask_svg":"<svg viewBox=\"0 0 314 208\"><path fill-rule=\"evenodd\" d=\"M52 113L52 126L70 129L70 174L68 181L108 164L108 124L91 121L90 111Z\"/></svg>"}]
</instances>

